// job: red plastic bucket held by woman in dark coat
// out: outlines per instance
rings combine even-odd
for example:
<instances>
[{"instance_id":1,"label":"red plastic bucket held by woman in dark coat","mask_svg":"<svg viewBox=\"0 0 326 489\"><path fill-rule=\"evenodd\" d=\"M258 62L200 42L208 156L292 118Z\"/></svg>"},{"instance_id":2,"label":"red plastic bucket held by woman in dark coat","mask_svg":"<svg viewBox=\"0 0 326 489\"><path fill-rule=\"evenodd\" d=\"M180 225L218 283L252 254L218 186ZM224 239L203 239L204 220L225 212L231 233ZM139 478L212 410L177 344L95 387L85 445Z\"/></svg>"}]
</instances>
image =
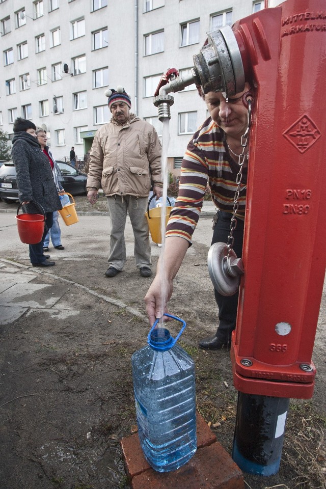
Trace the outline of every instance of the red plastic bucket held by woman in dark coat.
<instances>
[{"instance_id":1,"label":"red plastic bucket held by woman in dark coat","mask_svg":"<svg viewBox=\"0 0 326 489\"><path fill-rule=\"evenodd\" d=\"M17 227L20 241L27 244L37 244L42 240L45 226L45 212L43 207L37 202L32 202L43 214L18 214L22 204L17 209Z\"/></svg>"}]
</instances>

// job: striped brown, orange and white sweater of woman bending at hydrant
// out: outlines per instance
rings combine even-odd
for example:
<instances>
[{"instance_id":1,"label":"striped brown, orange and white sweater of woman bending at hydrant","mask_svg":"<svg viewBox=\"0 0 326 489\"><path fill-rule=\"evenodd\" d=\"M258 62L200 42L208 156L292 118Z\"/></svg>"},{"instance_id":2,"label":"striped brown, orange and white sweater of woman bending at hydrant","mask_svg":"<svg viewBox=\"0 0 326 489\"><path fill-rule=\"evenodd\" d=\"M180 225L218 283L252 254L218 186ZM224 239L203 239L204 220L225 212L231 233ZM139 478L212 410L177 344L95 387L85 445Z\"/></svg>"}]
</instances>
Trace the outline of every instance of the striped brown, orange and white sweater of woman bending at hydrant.
<instances>
[{"instance_id":1,"label":"striped brown, orange and white sweater of woman bending at hydrant","mask_svg":"<svg viewBox=\"0 0 326 489\"><path fill-rule=\"evenodd\" d=\"M209 117L195 132L182 160L179 195L170 214L166 237L179 236L191 243L208 185L218 209L233 211L239 165L224 146L223 130ZM242 169L236 217L244 220L247 168Z\"/></svg>"}]
</instances>

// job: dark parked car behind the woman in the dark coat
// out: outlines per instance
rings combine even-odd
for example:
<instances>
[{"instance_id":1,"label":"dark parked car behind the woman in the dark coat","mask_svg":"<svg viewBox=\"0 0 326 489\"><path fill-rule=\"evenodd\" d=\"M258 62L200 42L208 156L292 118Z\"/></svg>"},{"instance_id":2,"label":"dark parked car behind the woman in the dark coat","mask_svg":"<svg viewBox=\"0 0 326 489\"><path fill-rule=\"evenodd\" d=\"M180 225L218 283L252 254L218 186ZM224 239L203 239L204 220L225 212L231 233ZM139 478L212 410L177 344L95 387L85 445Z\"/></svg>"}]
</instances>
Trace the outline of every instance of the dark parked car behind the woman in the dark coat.
<instances>
[{"instance_id":1,"label":"dark parked car behind the woman in the dark coat","mask_svg":"<svg viewBox=\"0 0 326 489\"><path fill-rule=\"evenodd\" d=\"M58 179L65 192L71 195L86 194L87 175L64 161L56 160L56 164ZM7 161L0 167L0 197L7 203L19 200L13 161Z\"/></svg>"}]
</instances>

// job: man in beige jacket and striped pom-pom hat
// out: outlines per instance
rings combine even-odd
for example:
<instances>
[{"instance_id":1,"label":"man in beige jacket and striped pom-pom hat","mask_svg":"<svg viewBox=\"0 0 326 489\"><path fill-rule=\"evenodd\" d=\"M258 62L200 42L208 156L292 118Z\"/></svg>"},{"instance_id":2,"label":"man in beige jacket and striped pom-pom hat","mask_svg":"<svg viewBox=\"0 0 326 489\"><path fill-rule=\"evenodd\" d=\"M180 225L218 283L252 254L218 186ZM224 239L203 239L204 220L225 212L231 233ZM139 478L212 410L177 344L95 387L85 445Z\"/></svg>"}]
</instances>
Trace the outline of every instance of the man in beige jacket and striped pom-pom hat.
<instances>
[{"instance_id":1,"label":"man in beige jacket and striped pom-pom hat","mask_svg":"<svg viewBox=\"0 0 326 489\"><path fill-rule=\"evenodd\" d=\"M107 90L110 122L96 133L90 152L87 197L94 205L101 187L111 218L109 267L115 277L126 262L124 229L129 213L134 235L135 264L150 277L151 247L145 217L148 195L162 196L161 145L154 127L130 113L131 101L123 87Z\"/></svg>"}]
</instances>

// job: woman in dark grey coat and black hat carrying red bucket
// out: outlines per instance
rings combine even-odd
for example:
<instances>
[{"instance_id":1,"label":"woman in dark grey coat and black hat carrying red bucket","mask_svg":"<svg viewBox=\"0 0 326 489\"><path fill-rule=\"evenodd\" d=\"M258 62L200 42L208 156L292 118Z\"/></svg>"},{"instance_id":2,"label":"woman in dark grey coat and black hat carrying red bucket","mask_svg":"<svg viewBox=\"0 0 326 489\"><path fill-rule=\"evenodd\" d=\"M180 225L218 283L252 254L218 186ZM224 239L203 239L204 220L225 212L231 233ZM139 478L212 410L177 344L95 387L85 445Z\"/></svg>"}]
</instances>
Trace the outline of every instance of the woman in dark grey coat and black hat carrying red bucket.
<instances>
[{"instance_id":1,"label":"woman in dark grey coat and black hat carrying red bucket","mask_svg":"<svg viewBox=\"0 0 326 489\"><path fill-rule=\"evenodd\" d=\"M37 244L29 245L31 263L33 266L52 266L56 262L47 260L49 256L44 255L43 242L52 226L52 213L61 209L62 205L48 158L37 140L35 124L18 117L13 129L11 156L17 172L19 202L23 204L26 212L31 213L37 212L37 208L30 202L37 202L46 214L42 240Z\"/></svg>"}]
</instances>

